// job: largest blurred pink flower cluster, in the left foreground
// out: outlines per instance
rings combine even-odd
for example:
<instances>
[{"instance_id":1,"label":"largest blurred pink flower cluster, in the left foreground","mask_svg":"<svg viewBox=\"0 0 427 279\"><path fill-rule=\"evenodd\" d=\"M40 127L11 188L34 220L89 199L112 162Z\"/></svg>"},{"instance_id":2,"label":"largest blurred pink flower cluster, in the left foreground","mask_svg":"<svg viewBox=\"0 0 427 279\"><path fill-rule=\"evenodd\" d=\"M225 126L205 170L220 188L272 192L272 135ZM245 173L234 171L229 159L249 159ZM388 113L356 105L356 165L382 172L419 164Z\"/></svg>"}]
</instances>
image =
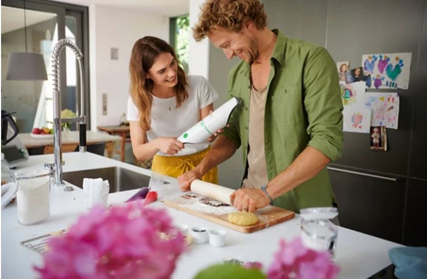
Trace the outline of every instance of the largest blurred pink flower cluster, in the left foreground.
<instances>
[{"instance_id":1,"label":"largest blurred pink flower cluster, in the left foreground","mask_svg":"<svg viewBox=\"0 0 427 279\"><path fill-rule=\"evenodd\" d=\"M128 203L109 210L93 208L63 237L48 243L40 278L165 279L185 249L166 211Z\"/></svg>"}]
</instances>

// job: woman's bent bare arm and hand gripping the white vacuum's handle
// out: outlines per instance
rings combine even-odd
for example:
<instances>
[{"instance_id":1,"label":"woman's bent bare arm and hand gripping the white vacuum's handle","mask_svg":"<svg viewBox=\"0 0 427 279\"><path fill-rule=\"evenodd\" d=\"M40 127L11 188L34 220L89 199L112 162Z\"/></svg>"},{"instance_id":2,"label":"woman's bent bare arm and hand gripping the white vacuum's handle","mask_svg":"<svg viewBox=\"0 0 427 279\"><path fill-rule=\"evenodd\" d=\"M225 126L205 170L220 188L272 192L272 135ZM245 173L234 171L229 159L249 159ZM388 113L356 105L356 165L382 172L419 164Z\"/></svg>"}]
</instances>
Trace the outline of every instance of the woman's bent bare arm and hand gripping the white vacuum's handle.
<instances>
[{"instance_id":1,"label":"woman's bent bare arm and hand gripping the white vacuum's handle","mask_svg":"<svg viewBox=\"0 0 427 279\"><path fill-rule=\"evenodd\" d=\"M146 131L138 122L129 121L129 125L133 154L139 161L150 160L159 150L165 154L174 155L184 148L184 144L174 137L159 137L152 142L147 142Z\"/></svg>"}]
</instances>

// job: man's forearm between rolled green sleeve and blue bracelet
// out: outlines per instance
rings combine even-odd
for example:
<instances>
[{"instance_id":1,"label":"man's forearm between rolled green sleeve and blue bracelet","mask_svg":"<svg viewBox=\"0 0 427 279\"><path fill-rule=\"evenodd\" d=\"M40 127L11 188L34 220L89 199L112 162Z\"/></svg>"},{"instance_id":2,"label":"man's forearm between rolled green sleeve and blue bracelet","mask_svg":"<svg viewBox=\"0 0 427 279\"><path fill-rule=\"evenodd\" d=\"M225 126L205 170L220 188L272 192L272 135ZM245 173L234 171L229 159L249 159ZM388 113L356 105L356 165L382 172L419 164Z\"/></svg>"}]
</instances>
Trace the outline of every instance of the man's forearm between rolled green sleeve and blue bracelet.
<instances>
[{"instance_id":1,"label":"man's forearm between rolled green sleeve and blue bracelet","mask_svg":"<svg viewBox=\"0 0 427 279\"><path fill-rule=\"evenodd\" d=\"M267 192L274 199L316 176L331 160L308 146L295 161L268 183Z\"/></svg>"}]
</instances>

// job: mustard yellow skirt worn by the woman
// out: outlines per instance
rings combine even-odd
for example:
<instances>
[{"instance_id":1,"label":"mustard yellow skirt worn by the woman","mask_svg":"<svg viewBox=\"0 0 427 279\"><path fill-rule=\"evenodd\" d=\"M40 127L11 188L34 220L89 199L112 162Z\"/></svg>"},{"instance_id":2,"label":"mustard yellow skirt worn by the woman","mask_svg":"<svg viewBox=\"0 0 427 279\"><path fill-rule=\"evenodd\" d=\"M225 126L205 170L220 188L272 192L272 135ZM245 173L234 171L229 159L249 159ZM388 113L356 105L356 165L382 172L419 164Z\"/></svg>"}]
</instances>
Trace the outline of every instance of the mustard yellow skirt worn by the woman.
<instances>
[{"instance_id":1,"label":"mustard yellow skirt worn by the woman","mask_svg":"<svg viewBox=\"0 0 427 279\"><path fill-rule=\"evenodd\" d=\"M203 157L209 152L210 146L196 154L185 156L161 156L155 155L151 163L151 170L160 174L177 178L181 174L196 168L202 162ZM202 181L218 184L217 167L208 171L202 177Z\"/></svg>"}]
</instances>

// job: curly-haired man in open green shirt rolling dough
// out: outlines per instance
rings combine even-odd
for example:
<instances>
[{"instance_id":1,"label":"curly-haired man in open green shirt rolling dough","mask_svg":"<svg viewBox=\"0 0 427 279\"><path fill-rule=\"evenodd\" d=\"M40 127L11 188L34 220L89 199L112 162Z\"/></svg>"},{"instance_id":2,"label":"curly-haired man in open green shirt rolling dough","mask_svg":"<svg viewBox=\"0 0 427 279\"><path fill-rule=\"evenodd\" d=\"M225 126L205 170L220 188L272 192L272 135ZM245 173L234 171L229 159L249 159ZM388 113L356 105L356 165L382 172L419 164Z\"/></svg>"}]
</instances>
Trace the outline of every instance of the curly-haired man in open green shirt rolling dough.
<instances>
[{"instance_id":1,"label":"curly-haired man in open green shirt rolling dough","mask_svg":"<svg viewBox=\"0 0 427 279\"><path fill-rule=\"evenodd\" d=\"M245 178L231 195L238 210L335 206L326 166L341 156L343 108L331 55L269 30L257 0L207 0L201 9L193 36L242 59L227 93L242 102L203 161L178 177L181 190L242 146Z\"/></svg>"}]
</instances>

